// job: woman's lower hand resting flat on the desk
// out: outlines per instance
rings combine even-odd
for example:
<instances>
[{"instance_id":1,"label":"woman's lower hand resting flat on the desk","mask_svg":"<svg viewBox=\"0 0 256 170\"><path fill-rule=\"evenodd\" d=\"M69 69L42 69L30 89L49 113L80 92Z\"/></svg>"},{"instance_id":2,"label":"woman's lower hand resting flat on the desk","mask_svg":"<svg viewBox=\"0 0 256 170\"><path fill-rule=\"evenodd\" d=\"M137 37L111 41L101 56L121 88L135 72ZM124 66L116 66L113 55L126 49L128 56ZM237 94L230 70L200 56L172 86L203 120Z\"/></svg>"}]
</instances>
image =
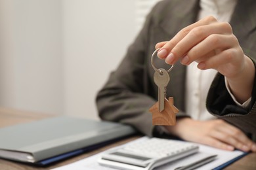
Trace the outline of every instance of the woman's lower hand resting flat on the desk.
<instances>
[{"instance_id":1,"label":"woman's lower hand resting flat on the desk","mask_svg":"<svg viewBox=\"0 0 256 170\"><path fill-rule=\"evenodd\" d=\"M165 126L172 133L195 143L207 144L223 150L238 148L245 152L256 152L253 143L240 129L224 120L197 121L191 118L179 118L175 126Z\"/></svg>"}]
</instances>

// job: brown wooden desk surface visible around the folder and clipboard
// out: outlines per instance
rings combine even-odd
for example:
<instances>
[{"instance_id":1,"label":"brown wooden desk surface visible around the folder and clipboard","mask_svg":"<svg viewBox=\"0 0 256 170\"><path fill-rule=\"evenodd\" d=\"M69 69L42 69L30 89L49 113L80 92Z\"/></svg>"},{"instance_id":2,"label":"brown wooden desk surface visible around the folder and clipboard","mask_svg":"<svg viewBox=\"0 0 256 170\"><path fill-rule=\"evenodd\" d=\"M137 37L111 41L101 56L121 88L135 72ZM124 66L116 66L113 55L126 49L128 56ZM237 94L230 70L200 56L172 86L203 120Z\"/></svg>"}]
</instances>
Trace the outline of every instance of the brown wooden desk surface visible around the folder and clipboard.
<instances>
[{"instance_id":1,"label":"brown wooden desk surface visible around the folder and clipboard","mask_svg":"<svg viewBox=\"0 0 256 170\"><path fill-rule=\"evenodd\" d=\"M35 112L26 112L26 111L20 111L20 110L12 110L12 109L4 109L0 108L0 127L5 126L11 126L14 124L22 124L26 122L33 122L35 120L41 120L44 118L50 118L53 115L50 114L39 114ZM97 154L98 152L102 152L103 150L106 150L108 148L112 148L114 146L118 146L120 144L127 143L129 141L133 141L134 139L137 139L140 136L134 136L129 137L127 139L123 139L121 141L118 141L113 144L109 144L108 146L104 146L102 148L99 148L97 150L94 150L92 152L87 152L85 154L81 154L79 156L75 156L74 158L70 158L68 160L60 161L58 163L55 163L54 165L51 165L49 167L33 167L31 165L25 165L23 163L17 163L14 161L8 161L8 160L1 160L0 159L0 169L52 169L54 167L59 167L61 165L67 165L68 163L73 163L78 160L82 160L83 158L87 158L89 156L92 156L94 154ZM226 169L256 169L256 153L248 154L244 158L236 161L232 165L226 167Z\"/></svg>"}]
</instances>

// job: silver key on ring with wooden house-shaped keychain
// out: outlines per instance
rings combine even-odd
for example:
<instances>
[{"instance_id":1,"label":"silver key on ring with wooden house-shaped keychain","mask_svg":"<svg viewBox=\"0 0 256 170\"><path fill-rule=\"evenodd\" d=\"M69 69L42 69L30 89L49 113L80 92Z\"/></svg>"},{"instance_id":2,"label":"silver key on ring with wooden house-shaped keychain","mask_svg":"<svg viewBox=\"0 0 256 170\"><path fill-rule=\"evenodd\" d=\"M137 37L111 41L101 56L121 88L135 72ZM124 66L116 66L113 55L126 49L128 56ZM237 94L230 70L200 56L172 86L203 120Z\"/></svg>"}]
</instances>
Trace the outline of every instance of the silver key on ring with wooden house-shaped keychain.
<instances>
[{"instance_id":1,"label":"silver key on ring with wooden house-shaped keychain","mask_svg":"<svg viewBox=\"0 0 256 170\"><path fill-rule=\"evenodd\" d=\"M166 87L170 80L168 72L173 69L173 65L168 71L166 71L165 69L156 69L153 62L154 54L156 54L156 52L158 52L158 50L156 50L152 54L151 63L152 67L155 70L154 82L158 86L158 102L150 108L150 112L152 112L152 124L173 126L176 122L175 114L179 110L175 106L173 106L173 97L169 97L169 100L165 98Z\"/></svg>"}]
</instances>

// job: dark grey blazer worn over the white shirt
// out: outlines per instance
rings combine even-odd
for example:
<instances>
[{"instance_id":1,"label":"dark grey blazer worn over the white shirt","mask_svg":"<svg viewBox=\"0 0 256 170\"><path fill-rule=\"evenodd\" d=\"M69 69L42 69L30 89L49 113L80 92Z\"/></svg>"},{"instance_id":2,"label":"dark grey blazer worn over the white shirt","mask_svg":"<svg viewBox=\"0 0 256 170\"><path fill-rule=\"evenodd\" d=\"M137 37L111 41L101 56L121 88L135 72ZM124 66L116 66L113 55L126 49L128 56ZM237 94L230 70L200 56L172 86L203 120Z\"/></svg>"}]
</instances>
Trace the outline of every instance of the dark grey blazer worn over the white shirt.
<instances>
[{"instance_id":1,"label":"dark grey blazer worn over the white shirt","mask_svg":"<svg viewBox=\"0 0 256 170\"><path fill-rule=\"evenodd\" d=\"M151 54L157 42L169 41L183 27L196 22L199 10L198 0L165 0L152 9L125 58L96 96L100 118L130 124L145 135L154 135L156 128L152 126L152 114L148 109L158 99L158 87L153 80ZM256 1L238 0L230 25L245 54L256 58ZM170 67L158 58L154 62L158 68ZM170 76L167 97L174 97L175 106L180 110L177 116L186 116L189 111L184 103L186 66L178 62ZM256 141L255 98L254 85L249 109L236 106L224 86L224 77L218 73L206 105L211 114L239 127Z\"/></svg>"}]
</instances>

